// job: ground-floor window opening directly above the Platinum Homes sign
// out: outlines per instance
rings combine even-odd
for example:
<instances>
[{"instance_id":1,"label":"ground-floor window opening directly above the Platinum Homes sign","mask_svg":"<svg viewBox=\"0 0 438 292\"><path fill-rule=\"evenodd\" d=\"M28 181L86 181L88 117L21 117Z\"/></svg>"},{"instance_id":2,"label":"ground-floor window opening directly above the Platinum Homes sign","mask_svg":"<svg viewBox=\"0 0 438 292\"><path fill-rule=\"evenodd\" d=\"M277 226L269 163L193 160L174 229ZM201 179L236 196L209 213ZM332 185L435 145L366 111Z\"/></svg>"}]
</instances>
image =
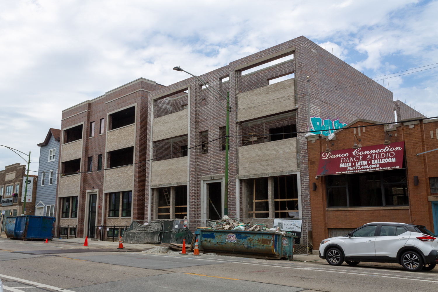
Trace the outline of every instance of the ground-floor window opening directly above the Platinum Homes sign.
<instances>
[{"instance_id":1,"label":"ground-floor window opening directly above the Platinum Homes sign","mask_svg":"<svg viewBox=\"0 0 438 292\"><path fill-rule=\"evenodd\" d=\"M276 218L298 218L297 176L277 176L274 181L274 210Z\"/></svg>"}]
</instances>

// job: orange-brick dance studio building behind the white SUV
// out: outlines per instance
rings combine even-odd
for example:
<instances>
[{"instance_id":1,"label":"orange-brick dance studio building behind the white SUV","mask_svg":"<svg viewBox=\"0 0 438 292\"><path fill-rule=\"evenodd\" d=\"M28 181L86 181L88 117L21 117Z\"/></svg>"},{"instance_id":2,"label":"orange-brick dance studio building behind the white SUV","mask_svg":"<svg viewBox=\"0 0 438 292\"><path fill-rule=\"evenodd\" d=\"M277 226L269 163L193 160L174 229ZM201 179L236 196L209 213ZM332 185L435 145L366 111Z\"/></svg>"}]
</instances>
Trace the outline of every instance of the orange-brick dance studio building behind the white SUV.
<instances>
[{"instance_id":1,"label":"orange-brick dance studio building behind the white SUV","mask_svg":"<svg viewBox=\"0 0 438 292\"><path fill-rule=\"evenodd\" d=\"M392 125L365 127L378 123L355 120L347 125L353 128L336 130L331 141L320 134L307 137L310 183L314 184L310 198L316 251L322 239L343 236L369 222L415 222L438 232L438 150L431 151L438 148L438 119L402 120ZM329 150L331 155L351 152L356 143L355 153L359 154L371 148L386 147L392 151L396 142L404 145L400 155L403 161L399 161L397 169L375 170L371 167L379 162L377 167L380 168L388 163L364 154L365 162L352 165L333 165L336 160L324 162L322 168L332 170L321 172L321 161ZM388 151L385 153L390 155ZM423 153L426 151L431 152ZM359 156L354 157L359 159ZM333 168L353 170L332 175Z\"/></svg>"}]
</instances>

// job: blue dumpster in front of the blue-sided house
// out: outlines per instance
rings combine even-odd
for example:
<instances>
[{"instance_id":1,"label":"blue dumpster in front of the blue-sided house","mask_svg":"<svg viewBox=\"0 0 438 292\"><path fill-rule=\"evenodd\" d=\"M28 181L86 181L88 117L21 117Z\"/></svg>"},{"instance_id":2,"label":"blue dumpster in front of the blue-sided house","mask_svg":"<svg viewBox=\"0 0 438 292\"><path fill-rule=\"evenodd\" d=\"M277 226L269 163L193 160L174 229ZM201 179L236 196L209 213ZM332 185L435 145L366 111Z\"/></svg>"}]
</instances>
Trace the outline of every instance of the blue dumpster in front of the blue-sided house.
<instances>
[{"instance_id":1,"label":"blue dumpster in front of the blue-sided house","mask_svg":"<svg viewBox=\"0 0 438 292\"><path fill-rule=\"evenodd\" d=\"M55 217L10 216L6 217L5 232L8 238L52 239Z\"/></svg>"}]
</instances>

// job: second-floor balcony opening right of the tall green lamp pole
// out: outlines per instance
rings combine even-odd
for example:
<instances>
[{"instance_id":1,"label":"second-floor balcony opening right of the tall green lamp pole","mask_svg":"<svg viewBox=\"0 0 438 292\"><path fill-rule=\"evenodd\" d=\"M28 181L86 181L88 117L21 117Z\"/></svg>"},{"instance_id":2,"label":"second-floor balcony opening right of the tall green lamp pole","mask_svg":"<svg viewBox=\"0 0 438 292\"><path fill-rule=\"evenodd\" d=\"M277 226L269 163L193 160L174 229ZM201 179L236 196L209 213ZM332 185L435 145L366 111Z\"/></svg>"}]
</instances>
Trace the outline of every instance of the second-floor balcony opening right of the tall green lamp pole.
<instances>
[{"instance_id":1,"label":"second-floor balcony opening right of the tall green lamp pole","mask_svg":"<svg viewBox=\"0 0 438 292\"><path fill-rule=\"evenodd\" d=\"M293 132L297 132L295 111L245 122L242 123L242 135L248 136L242 137L241 146L297 137L297 134L284 134Z\"/></svg>"}]
</instances>

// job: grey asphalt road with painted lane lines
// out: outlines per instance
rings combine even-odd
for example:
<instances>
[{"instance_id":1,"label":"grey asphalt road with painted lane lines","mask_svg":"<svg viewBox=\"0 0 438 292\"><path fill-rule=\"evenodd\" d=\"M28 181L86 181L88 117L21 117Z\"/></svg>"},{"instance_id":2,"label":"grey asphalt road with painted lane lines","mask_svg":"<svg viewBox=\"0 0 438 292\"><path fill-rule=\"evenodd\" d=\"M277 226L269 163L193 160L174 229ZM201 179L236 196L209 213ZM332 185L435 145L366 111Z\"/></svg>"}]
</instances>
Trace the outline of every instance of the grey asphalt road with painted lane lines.
<instances>
[{"instance_id":1,"label":"grey asphalt road with painted lane lines","mask_svg":"<svg viewBox=\"0 0 438 292\"><path fill-rule=\"evenodd\" d=\"M114 251L112 251L114 250ZM437 291L438 267L396 264L333 267L287 260L183 256L0 239L5 291Z\"/></svg>"}]
</instances>

